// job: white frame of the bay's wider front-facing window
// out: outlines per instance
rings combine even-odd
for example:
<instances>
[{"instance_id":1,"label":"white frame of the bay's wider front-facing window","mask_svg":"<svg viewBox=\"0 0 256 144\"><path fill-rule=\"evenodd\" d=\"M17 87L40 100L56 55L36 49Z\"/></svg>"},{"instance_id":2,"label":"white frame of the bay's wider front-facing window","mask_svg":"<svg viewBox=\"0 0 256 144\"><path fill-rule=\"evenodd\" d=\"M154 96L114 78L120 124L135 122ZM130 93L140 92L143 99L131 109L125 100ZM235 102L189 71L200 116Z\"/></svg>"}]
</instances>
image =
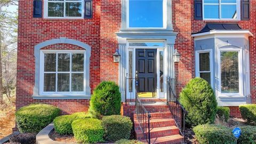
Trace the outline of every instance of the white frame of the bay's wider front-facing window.
<instances>
[{"instance_id":1,"label":"white frame of the bay's wider front-facing window","mask_svg":"<svg viewBox=\"0 0 256 144\"><path fill-rule=\"evenodd\" d=\"M220 62L220 52L222 51L231 51L231 52L238 52L238 73L239 73L239 92L238 93L222 93L221 92L221 62ZM239 48L220 48L218 50L218 77L219 77L219 84L218 84L218 97L244 97L243 94L243 67L242 67L242 49Z\"/></svg>"}]
</instances>

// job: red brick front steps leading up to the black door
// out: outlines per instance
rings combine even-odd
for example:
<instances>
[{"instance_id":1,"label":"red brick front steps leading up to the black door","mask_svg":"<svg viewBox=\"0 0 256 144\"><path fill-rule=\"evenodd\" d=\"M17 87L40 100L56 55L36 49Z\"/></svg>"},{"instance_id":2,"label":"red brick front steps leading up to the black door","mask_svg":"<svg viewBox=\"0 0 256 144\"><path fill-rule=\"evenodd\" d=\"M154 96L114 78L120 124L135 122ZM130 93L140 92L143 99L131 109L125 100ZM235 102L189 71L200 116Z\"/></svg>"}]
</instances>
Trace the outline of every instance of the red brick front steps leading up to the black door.
<instances>
[{"instance_id":1,"label":"red brick front steps leading up to the black door","mask_svg":"<svg viewBox=\"0 0 256 144\"><path fill-rule=\"evenodd\" d=\"M151 143L182 143L183 137L179 134L179 129L175 124L166 105L143 105L150 112L150 144ZM137 140L148 143L140 129L137 115L133 114L134 130ZM148 122L146 122L148 125Z\"/></svg>"}]
</instances>

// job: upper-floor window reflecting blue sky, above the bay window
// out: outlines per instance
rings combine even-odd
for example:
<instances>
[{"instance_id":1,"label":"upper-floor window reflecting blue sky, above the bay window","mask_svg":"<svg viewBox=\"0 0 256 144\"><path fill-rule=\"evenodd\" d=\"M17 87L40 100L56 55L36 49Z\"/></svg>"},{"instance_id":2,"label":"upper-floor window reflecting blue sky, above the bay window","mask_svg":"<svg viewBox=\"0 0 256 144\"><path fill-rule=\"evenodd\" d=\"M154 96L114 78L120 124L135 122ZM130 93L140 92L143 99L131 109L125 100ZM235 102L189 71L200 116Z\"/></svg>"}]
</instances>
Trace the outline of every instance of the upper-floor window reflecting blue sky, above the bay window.
<instances>
[{"instance_id":1,"label":"upper-floor window reflecting blue sky, above the bay window","mask_svg":"<svg viewBox=\"0 0 256 144\"><path fill-rule=\"evenodd\" d=\"M237 20L239 0L203 0L204 19Z\"/></svg>"}]
</instances>

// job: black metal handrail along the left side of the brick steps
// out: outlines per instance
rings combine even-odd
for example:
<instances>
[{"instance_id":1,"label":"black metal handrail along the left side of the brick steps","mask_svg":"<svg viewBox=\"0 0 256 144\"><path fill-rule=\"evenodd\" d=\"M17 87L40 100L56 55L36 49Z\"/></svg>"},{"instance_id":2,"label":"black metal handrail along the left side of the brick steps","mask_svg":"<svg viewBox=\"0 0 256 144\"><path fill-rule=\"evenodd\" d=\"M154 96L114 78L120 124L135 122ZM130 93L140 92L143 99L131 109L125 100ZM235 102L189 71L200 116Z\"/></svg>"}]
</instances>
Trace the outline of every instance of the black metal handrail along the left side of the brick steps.
<instances>
[{"instance_id":1,"label":"black metal handrail along the left side of the brick steps","mask_svg":"<svg viewBox=\"0 0 256 144\"><path fill-rule=\"evenodd\" d=\"M135 106L137 120L140 125L140 129L146 138L147 142L150 143L150 118L149 111L142 105L142 102L138 96L137 89L135 89Z\"/></svg>"}]
</instances>

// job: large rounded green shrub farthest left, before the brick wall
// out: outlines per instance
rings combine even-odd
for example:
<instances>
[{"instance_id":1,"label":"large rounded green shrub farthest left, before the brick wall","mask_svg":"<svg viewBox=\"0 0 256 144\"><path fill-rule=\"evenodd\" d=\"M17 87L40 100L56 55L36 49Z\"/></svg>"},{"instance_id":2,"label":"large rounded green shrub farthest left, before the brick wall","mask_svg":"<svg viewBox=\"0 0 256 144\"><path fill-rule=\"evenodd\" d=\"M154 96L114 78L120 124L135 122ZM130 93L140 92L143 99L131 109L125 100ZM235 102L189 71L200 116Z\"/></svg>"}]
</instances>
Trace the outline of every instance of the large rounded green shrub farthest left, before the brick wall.
<instances>
[{"instance_id":1,"label":"large rounded green shrub farthest left, before the brick wall","mask_svg":"<svg viewBox=\"0 0 256 144\"><path fill-rule=\"evenodd\" d=\"M16 111L16 122L21 133L38 133L60 114L60 109L51 105L34 103Z\"/></svg>"}]
</instances>

